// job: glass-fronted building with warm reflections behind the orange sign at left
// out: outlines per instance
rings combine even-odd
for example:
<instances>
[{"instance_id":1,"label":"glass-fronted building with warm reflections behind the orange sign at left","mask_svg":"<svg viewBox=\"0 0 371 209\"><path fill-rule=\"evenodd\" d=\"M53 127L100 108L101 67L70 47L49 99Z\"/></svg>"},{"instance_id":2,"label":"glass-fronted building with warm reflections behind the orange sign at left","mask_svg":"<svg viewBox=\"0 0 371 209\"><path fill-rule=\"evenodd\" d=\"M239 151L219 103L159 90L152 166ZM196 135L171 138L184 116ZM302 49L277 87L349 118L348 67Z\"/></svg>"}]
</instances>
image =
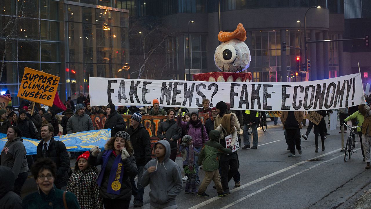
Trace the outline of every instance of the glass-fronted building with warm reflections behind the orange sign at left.
<instances>
[{"instance_id":1,"label":"glass-fronted building with warm reflections behind the orange sign at left","mask_svg":"<svg viewBox=\"0 0 371 209\"><path fill-rule=\"evenodd\" d=\"M14 27L0 34L4 50L2 91L9 90L13 105L24 67L59 76L62 100L89 93L91 77L127 77L129 64L128 10L113 0L3 0L0 31L17 17ZM18 15L22 10L23 15ZM12 30L13 29L13 30ZM3 52L0 52L1 58Z\"/></svg>"}]
</instances>

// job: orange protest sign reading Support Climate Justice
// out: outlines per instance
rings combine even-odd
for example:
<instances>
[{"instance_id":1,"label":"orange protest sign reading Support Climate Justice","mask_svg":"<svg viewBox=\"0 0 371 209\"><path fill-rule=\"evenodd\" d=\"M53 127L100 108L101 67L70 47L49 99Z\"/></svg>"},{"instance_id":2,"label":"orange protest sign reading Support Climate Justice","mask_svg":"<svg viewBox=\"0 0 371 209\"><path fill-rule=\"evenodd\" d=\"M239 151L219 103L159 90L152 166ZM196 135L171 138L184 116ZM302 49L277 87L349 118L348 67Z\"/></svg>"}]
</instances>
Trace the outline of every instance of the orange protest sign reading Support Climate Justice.
<instances>
[{"instance_id":1,"label":"orange protest sign reading Support Climate Justice","mask_svg":"<svg viewBox=\"0 0 371 209\"><path fill-rule=\"evenodd\" d=\"M58 76L25 67L17 96L43 105L53 106L59 79Z\"/></svg>"}]
</instances>

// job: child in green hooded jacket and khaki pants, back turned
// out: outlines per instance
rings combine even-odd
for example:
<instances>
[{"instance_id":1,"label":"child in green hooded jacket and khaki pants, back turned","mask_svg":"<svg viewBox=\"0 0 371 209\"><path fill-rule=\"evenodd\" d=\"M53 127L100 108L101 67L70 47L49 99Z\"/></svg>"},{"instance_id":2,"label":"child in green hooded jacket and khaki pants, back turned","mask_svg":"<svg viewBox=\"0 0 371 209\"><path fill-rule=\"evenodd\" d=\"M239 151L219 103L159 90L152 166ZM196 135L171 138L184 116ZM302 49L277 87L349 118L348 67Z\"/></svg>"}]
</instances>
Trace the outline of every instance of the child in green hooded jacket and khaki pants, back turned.
<instances>
[{"instance_id":1,"label":"child in green hooded jacket and khaki pants, back turned","mask_svg":"<svg viewBox=\"0 0 371 209\"><path fill-rule=\"evenodd\" d=\"M224 148L219 143L220 131L211 130L209 133L209 141L205 142L204 147L201 149L200 155L198 156L198 165L204 164L205 177L198 188L197 196L209 197L209 194L205 193L207 186L209 186L211 180L214 181L216 190L219 197L227 196L229 193L224 192L221 187L220 174L219 174L219 160L221 153L231 154L232 150Z\"/></svg>"}]
</instances>

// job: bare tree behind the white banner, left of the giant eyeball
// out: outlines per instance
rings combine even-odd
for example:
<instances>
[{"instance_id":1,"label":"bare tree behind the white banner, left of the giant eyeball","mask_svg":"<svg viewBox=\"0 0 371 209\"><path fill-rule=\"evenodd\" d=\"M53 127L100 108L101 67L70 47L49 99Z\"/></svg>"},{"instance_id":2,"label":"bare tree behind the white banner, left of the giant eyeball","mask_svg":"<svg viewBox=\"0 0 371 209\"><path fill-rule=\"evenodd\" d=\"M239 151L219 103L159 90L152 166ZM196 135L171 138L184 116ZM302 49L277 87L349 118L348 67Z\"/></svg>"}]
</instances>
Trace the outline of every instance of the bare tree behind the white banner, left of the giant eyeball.
<instances>
[{"instance_id":1,"label":"bare tree behind the white banner, left of the giant eyeball","mask_svg":"<svg viewBox=\"0 0 371 209\"><path fill-rule=\"evenodd\" d=\"M169 32L161 19L132 17L129 30L130 59L131 65L138 66L131 74L137 75L138 79L161 77L169 64L165 59L165 42L174 35L175 32Z\"/></svg>"}]
</instances>

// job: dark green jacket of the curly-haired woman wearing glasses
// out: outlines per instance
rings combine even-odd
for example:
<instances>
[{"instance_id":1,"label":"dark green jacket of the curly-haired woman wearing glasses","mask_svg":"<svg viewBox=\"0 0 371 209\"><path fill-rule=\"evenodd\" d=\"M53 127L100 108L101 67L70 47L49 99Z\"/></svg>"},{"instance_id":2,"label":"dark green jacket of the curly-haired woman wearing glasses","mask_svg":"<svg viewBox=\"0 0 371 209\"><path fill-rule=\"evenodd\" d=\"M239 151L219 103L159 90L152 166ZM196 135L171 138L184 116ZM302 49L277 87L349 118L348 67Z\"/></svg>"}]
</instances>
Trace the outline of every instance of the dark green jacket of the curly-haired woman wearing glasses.
<instances>
[{"instance_id":1,"label":"dark green jacket of the curly-haired woman wearing glasses","mask_svg":"<svg viewBox=\"0 0 371 209\"><path fill-rule=\"evenodd\" d=\"M24 197L22 206L23 209L64 209L63 190L54 188L50 190L48 195L43 192L34 192ZM75 194L66 192L67 207L70 209L80 208L79 202Z\"/></svg>"}]
</instances>

